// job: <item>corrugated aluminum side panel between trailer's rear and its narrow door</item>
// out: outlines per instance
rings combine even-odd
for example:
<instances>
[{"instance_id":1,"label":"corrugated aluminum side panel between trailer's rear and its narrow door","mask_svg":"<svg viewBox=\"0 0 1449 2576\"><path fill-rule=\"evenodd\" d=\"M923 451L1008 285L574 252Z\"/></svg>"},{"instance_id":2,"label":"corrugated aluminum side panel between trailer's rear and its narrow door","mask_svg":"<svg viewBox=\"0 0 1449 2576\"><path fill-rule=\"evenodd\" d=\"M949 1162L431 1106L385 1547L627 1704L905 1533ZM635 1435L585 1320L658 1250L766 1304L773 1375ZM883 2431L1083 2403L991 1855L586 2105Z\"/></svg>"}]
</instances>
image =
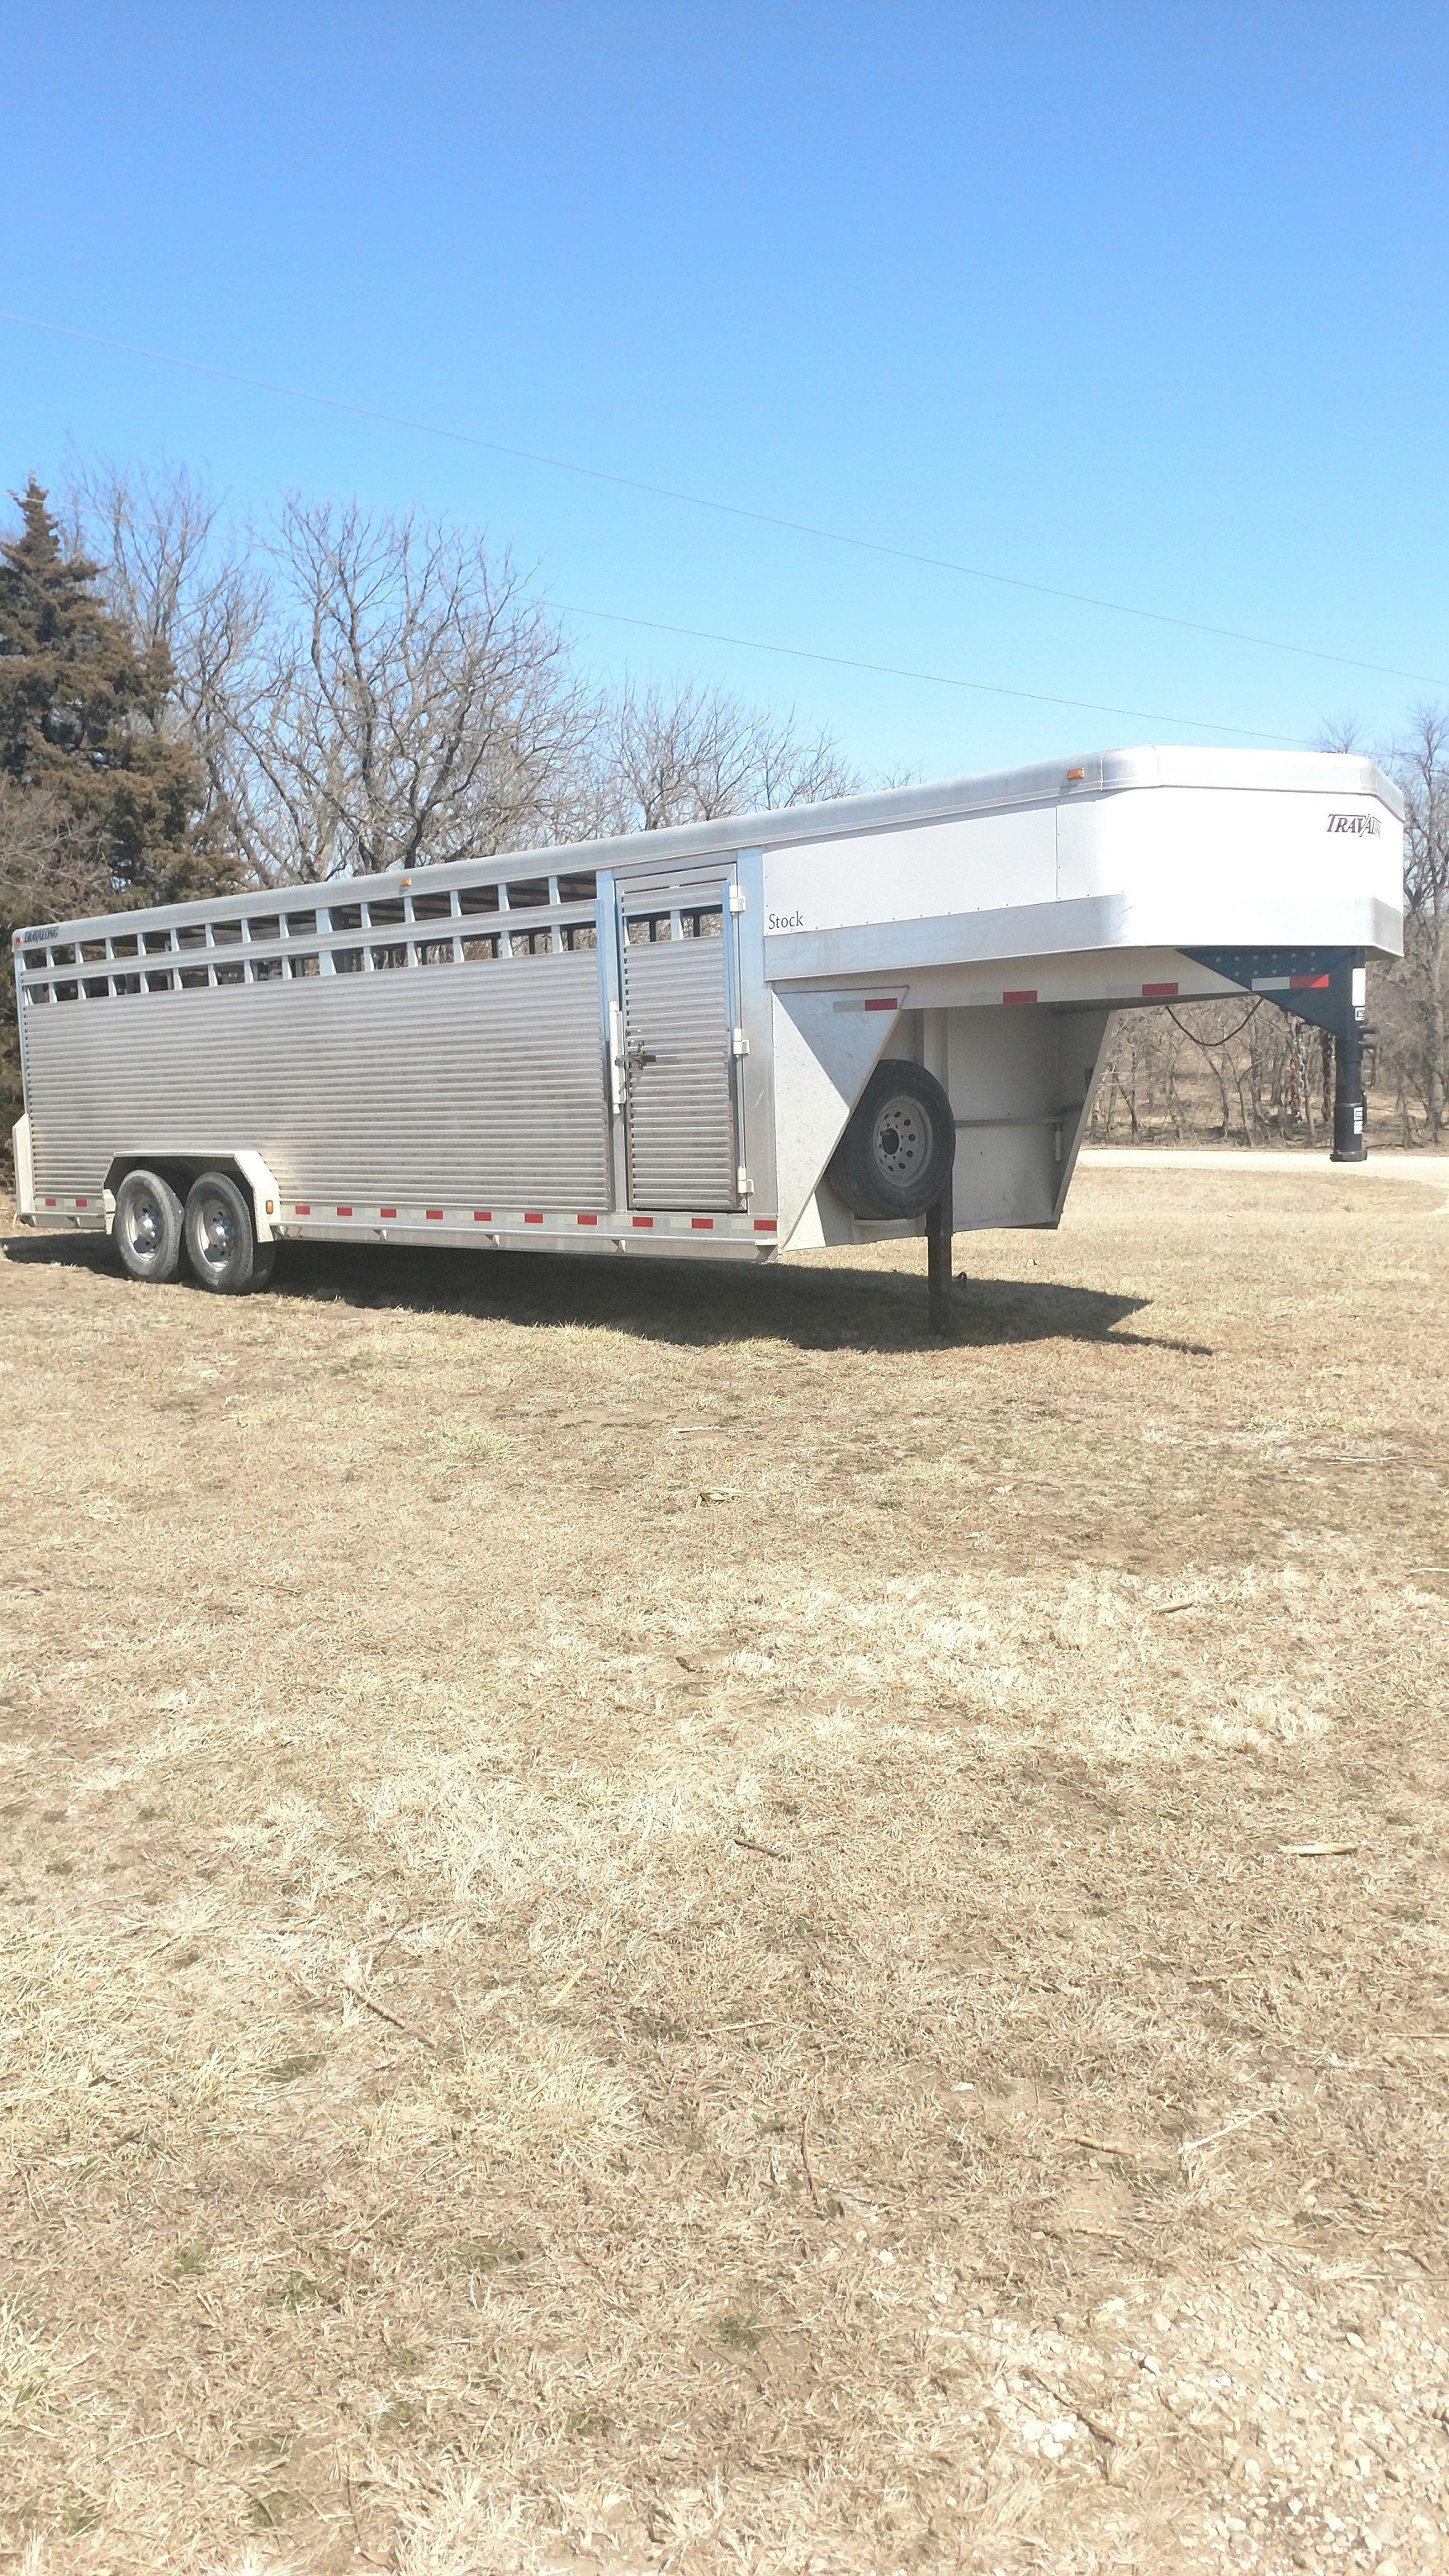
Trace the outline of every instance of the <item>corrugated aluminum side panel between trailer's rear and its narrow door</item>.
<instances>
[{"instance_id":1,"label":"corrugated aluminum side panel between trailer's rear and its narrow door","mask_svg":"<svg viewBox=\"0 0 1449 2576\"><path fill-rule=\"evenodd\" d=\"M611 1198L590 951L28 1007L26 1077L41 1193L253 1146L286 1198Z\"/></svg>"}]
</instances>

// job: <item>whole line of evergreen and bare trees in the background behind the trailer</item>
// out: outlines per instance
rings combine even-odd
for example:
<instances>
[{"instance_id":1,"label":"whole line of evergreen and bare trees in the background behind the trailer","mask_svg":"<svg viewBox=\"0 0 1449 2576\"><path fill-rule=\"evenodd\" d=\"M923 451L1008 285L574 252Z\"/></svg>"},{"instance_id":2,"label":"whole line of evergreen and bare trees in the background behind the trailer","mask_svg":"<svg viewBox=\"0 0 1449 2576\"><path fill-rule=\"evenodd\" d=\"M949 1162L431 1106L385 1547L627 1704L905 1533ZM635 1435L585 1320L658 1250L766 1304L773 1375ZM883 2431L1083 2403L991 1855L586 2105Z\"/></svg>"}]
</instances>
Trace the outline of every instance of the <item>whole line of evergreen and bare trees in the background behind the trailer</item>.
<instances>
[{"instance_id":1,"label":"whole line of evergreen and bare trees in the background behind the trailer","mask_svg":"<svg viewBox=\"0 0 1449 2576\"><path fill-rule=\"evenodd\" d=\"M232 523L188 471L15 495L0 544L0 1131L18 925L650 832L861 786L830 734L727 690L598 688L474 531L286 500ZM1325 747L1356 750L1338 726ZM1441 1141L1449 714L1379 747L1408 806L1408 945L1374 969L1372 1113ZM1098 1136L1315 1139L1318 1038L1271 1005L1124 1012Z\"/></svg>"}]
</instances>

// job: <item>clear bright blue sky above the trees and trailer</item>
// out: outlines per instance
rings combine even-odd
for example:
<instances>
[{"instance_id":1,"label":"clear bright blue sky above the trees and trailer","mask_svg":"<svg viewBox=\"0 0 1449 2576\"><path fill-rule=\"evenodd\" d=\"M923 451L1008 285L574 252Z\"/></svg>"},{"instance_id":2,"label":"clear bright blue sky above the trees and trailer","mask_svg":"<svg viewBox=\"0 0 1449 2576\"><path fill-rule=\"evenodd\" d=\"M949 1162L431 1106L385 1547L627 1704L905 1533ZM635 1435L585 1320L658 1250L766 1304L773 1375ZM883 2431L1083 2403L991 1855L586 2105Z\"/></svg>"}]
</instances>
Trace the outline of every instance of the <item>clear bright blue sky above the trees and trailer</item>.
<instances>
[{"instance_id":1,"label":"clear bright blue sky above the trees and trailer","mask_svg":"<svg viewBox=\"0 0 1449 2576\"><path fill-rule=\"evenodd\" d=\"M5 10L0 90L15 312L1423 680L10 322L5 484L80 451L423 505L570 608L1145 711L575 621L866 770L1449 701L1441 5L59 0Z\"/></svg>"}]
</instances>

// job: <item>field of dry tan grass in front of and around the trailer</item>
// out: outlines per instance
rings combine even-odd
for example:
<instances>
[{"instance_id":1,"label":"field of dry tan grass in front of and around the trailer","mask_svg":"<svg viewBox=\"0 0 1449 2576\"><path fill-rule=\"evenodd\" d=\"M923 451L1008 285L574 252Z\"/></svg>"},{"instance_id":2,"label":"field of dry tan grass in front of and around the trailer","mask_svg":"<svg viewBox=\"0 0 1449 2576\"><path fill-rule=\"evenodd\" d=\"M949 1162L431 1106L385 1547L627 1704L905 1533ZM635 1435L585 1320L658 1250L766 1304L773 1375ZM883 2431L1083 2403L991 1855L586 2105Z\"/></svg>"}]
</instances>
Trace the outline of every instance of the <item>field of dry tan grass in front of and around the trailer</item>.
<instances>
[{"instance_id":1,"label":"field of dry tan grass in front of and around the trailer","mask_svg":"<svg viewBox=\"0 0 1449 2576\"><path fill-rule=\"evenodd\" d=\"M0 2563L1449 2566L1449 1216L0 1247Z\"/></svg>"}]
</instances>

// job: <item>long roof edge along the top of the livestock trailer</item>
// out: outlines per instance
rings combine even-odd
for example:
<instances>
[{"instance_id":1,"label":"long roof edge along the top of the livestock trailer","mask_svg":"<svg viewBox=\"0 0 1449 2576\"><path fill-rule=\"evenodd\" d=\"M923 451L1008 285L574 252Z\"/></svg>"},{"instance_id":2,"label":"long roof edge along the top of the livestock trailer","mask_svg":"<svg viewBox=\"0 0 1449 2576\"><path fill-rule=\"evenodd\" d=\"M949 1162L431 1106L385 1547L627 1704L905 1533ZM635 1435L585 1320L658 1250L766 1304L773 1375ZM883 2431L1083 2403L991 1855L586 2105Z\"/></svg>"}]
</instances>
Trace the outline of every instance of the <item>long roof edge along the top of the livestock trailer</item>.
<instances>
[{"instance_id":1,"label":"long roof edge along the top of the livestock trailer","mask_svg":"<svg viewBox=\"0 0 1449 2576\"><path fill-rule=\"evenodd\" d=\"M379 876L286 878L255 891L209 894L188 904L150 904L129 912L72 914L57 922L31 922L15 943L46 935L103 935L111 927L206 922L217 914L276 912L297 902L366 902L425 878L431 886L472 884L480 873L498 881L578 873L580 868L629 868L676 858L709 858L727 850L779 850L789 842L835 840L843 835L892 832L908 822L941 822L954 814L982 814L1006 806L1057 804L1062 796L1122 793L1127 788L1258 788L1276 793L1318 791L1325 796L1377 796L1403 819L1403 796L1374 760L1356 752L1227 752L1196 744L1134 744L1114 752L1078 752L1065 760L1034 760L1018 770L987 770L975 778L944 778L931 786L877 788L869 796L835 796L828 804L773 806L763 814L727 814L719 822L670 824L663 832L629 832L614 840L547 842L534 850L487 850L480 858L441 866L387 868Z\"/></svg>"}]
</instances>

